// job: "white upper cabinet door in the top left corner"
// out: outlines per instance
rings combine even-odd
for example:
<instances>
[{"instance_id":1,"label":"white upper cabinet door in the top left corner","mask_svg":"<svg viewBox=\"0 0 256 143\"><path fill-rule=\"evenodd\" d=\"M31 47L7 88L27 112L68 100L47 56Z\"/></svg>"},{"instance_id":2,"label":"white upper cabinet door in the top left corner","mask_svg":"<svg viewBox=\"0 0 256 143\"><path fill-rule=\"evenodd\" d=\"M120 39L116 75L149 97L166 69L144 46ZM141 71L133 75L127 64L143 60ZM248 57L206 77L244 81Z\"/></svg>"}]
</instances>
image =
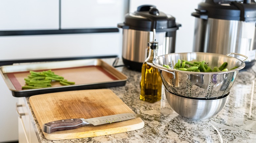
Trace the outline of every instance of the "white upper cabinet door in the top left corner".
<instances>
[{"instance_id":1,"label":"white upper cabinet door in the top left corner","mask_svg":"<svg viewBox=\"0 0 256 143\"><path fill-rule=\"evenodd\" d=\"M0 31L59 28L59 0L0 0Z\"/></svg>"}]
</instances>

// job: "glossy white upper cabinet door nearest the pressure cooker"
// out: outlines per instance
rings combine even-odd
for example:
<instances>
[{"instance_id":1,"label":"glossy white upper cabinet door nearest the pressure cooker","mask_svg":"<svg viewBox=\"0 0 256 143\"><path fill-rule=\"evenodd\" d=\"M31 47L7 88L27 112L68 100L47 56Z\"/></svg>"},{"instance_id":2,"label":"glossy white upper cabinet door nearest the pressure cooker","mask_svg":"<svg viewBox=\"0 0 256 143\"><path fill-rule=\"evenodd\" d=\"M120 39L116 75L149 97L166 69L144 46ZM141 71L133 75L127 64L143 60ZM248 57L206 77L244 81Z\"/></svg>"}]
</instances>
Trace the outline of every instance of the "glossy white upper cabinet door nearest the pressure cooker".
<instances>
[{"instance_id":1,"label":"glossy white upper cabinet door nearest the pressure cooker","mask_svg":"<svg viewBox=\"0 0 256 143\"><path fill-rule=\"evenodd\" d=\"M62 0L61 28L117 27L123 22L126 3L127 0Z\"/></svg>"}]
</instances>

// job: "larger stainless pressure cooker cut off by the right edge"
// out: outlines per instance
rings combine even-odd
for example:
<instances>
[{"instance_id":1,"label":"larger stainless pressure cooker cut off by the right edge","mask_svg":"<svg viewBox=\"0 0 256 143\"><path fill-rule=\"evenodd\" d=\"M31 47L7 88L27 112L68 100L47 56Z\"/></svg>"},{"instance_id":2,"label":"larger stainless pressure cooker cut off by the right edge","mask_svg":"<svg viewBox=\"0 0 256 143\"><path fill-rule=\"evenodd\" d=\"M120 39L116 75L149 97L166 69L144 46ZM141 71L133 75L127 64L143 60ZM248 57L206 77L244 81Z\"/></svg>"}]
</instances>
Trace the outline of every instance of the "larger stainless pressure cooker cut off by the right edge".
<instances>
[{"instance_id":1,"label":"larger stainless pressure cooker cut off by the right edge","mask_svg":"<svg viewBox=\"0 0 256 143\"><path fill-rule=\"evenodd\" d=\"M254 0L205 0L195 10L193 52L239 53L248 57L245 69L255 63Z\"/></svg>"}]
</instances>

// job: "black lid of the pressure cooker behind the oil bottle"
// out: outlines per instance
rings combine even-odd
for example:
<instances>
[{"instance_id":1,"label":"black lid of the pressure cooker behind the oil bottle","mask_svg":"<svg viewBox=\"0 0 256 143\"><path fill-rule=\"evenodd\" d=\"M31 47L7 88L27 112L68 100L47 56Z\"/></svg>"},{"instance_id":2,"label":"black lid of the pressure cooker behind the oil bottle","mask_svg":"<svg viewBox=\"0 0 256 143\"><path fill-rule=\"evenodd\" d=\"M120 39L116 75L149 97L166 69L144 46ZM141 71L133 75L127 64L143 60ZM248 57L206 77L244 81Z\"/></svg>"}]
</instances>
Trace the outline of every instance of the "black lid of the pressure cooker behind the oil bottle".
<instances>
[{"instance_id":1,"label":"black lid of the pressure cooker behind the oil bottle","mask_svg":"<svg viewBox=\"0 0 256 143\"><path fill-rule=\"evenodd\" d=\"M141 31L176 31L181 24L176 24L175 17L160 12L156 6L142 5L134 13L125 15L124 23L117 24L119 28Z\"/></svg>"}]
</instances>

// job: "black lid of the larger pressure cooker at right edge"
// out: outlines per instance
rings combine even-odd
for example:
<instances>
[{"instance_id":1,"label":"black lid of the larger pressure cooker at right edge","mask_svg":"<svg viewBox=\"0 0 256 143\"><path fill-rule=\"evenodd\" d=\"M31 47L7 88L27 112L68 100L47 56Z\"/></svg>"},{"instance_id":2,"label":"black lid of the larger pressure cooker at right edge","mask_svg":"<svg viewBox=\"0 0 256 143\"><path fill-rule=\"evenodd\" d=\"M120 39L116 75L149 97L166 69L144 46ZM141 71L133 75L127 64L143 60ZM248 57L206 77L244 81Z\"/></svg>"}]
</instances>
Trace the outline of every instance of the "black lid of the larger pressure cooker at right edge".
<instances>
[{"instance_id":1,"label":"black lid of the larger pressure cooker at right edge","mask_svg":"<svg viewBox=\"0 0 256 143\"><path fill-rule=\"evenodd\" d=\"M254 0L205 0L191 15L201 19L215 18L237 21L256 21Z\"/></svg>"}]
</instances>

